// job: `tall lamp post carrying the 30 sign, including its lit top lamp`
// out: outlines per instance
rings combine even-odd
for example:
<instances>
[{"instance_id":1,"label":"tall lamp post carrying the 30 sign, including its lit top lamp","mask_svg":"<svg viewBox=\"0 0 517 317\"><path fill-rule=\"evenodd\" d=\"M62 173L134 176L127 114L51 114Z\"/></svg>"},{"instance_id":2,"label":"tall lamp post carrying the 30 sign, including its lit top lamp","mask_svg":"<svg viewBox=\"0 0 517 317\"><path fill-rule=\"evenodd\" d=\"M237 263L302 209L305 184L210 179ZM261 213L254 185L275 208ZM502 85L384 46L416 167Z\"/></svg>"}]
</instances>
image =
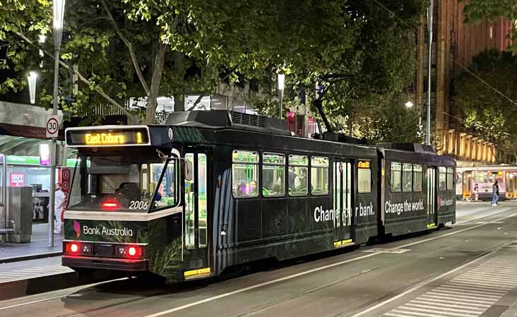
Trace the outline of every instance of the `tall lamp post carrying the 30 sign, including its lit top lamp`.
<instances>
[{"instance_id":1,"label":"tall lamp post carrying the 30 sign, including its lit top lamp","mask_svg":"<svg viewBox=\"0 0 517 317\"><path fill-rule=\"evenodd\" d=\"M54 0L54 107L52 114L57 115L57 88L59 85L59 50L61 49L61 39L63 37L63 18L65 0ZM55 201L56 191L56 152L57 143L56 138L52 138L52 150L50 155L50 210L49 210L49 247L54 247L54 215L55 215Z\"/></svg>"}]
</instances>

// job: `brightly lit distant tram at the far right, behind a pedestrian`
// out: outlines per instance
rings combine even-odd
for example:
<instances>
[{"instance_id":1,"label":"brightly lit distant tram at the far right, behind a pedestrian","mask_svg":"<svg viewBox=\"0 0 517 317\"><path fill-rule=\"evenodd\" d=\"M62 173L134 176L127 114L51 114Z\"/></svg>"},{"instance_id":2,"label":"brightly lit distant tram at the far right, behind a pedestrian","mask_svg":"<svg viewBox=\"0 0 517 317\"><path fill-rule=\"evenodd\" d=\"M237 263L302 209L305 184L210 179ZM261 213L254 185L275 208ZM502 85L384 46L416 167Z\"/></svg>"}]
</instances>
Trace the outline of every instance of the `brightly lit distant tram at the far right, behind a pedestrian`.
<instances>
[{"instance_id":1,"label":"brightly lit distant tram at the far right, behind a pedestrian","mask_svg":"<svg viewBox=\"0 0 517 317\"><path fill-rule=\"evenodd\" d=\"M499 186L499 200L517 198L517 167L515 166L458 167L456 171L458 199L473 200L477 190L478 199L489 201L492 199L492 185L496 180Z\"/></svg>"}]
</instances>

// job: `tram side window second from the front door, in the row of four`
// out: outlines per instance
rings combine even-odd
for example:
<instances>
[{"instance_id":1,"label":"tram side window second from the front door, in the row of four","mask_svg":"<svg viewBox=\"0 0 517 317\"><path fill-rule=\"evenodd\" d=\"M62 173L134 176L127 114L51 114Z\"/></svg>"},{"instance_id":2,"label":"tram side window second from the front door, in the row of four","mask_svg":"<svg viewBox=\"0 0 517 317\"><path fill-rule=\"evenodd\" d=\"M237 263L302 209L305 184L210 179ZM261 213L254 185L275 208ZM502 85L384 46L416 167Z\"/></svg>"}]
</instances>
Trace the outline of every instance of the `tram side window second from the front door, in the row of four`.
<instances>
[{"instance_id":1,"label":"tram side window second from the front door, in the row of four","mask_svg":"<svg viewBox=\"0 0 517 317\"><path fill-rule=\"evenodd\" d=\"M262 195L264 197L284 196L285 155L263 153L262 155Z\"/></svg>"}]
</instances>

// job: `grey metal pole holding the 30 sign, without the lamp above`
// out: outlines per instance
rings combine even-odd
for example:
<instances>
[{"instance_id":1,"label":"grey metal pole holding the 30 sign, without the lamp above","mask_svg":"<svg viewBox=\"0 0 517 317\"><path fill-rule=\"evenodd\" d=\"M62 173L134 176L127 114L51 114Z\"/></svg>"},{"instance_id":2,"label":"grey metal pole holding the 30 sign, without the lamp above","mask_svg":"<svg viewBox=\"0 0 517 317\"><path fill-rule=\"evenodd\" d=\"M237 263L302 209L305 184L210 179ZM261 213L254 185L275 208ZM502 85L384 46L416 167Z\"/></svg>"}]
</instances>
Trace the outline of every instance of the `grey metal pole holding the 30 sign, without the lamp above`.
<instances>
[{"instance_id":1,"label":"grey metal pole holding the 30 sign, without the lamp above","mask_svg":"<svg viewBox=\"0 0 517 317\"><path fill-rule=\"evenodd\" d=\"M59 85L59 46L56 46L56 55L54 60L54 108L52 114L57 115L57 95ZM54 247L54 215L56 214L56 155L57 142L56 138L52 138L52 146L50 149L50 208L49 208L49 247Z\"/></svg>"}]
</instances>

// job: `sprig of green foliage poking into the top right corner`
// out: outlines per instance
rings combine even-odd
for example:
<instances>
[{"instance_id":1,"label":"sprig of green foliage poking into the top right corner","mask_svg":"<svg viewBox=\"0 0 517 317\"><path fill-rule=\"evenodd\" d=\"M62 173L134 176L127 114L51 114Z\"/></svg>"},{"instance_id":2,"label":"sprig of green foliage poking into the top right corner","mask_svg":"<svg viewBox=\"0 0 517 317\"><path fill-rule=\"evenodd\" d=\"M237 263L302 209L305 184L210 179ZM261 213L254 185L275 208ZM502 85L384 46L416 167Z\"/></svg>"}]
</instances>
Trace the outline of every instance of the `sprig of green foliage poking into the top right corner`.
<instances>
[{"instance_id":1,"label":"sprig of green foliage poking into the top right corner","mask_svg":"<svg viewBox=\"0 0 517 317\"><path fill-rule=\"evenodd\" d=\"M462 0L464 1L464 0ZM465 23L478 23L488 20L494 21L501 17L510 21L517 20L517 1L515 0L468 0L464 1ZM511 23L511 52L517 53L517 24Z\"/></svg>"}]
</instances>

